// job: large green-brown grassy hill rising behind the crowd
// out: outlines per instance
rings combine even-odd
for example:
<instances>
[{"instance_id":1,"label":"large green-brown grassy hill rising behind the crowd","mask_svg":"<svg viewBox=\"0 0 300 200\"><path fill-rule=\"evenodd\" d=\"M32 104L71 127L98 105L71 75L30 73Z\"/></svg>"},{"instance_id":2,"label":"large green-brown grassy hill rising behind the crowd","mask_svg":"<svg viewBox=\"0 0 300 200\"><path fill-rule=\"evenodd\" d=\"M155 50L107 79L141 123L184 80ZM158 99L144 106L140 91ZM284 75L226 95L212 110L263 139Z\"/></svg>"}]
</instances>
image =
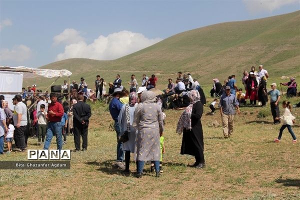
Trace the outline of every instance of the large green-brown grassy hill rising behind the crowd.
<instances>
[{"instance_id":1,"label":"large green-brown grassy hill rising behind the crowd","mask_svg":"<svg viewBox=\"0 0 300 200\"><path fill-rule=\"evenodd\" d=\"M160 80L159 88L167 84L166 78L175 78L179 70L190 72L202 85L210 84L213 77L224 79L232 73L240 79L243 70L249 71L252 65L260 63L268 70L270 78L289 74L296 76L300 75L299 21L300 11L296 11L255 20L213 24L178 33L115 60L72 58L41 68L68 69L73 73L71 79L79 80L83 76L90 85L96 74L109 82L119 73L125 83L131 73L137 76L139 82L142 73L155 73ZM40 77L37 78L39 80ZM24 84L36 83L34 79L26 78ZM46 86L50 82L52 80L42 78L38 84Z\"/></svg>"}]
</instances>

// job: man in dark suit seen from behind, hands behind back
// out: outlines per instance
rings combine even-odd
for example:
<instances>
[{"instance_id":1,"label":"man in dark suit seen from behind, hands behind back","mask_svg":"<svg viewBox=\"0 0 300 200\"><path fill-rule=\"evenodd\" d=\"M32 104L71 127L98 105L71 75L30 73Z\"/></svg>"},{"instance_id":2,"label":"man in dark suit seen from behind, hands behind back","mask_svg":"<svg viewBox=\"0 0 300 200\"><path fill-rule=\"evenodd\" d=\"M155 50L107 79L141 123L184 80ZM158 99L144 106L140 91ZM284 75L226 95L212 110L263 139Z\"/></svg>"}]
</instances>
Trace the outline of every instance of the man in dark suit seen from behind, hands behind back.
<instances>
[{"instance_id":1,"label":"man in dark suit seen from behind, hands behind back","mask_svg":"<svg viewBox=\"0 0 300 200\"><path fill-rule=\"evenodd\" d=\"M73 105L73 126L75 150L80 150L80 135L82 137L82 151L87 148L88 118L91 116L90 106L83 102L83 95L78 94L78 102Z\"/></svg>"}]
</instances>

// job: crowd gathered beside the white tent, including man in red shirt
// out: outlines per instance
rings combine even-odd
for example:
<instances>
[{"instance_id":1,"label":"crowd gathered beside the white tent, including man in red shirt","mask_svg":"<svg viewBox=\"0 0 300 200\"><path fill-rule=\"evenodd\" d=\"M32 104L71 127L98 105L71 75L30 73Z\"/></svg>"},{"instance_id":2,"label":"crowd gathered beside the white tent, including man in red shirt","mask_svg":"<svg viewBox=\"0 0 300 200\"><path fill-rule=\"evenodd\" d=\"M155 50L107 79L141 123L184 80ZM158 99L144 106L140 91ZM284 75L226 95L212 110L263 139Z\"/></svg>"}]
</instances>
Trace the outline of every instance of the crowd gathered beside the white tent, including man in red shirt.
<instances>
[{"instance_id":1,"label":"crowd gathered beside the white tent, including man in red shirt","mask_svg":"<svg viewBox=\"0 0 300 200\"><path fill-rule=\"evenodd\" d=\"M42 93L40 89L36 89L35 84L32 87L28 86L28 90L23 87L22 93L12 98L13 111L8 108L5 97L0 95L0 154L4 153L4 140L7 142L6 153L12 150L24 151L29 136L36 137L37 145L43 145L43 149L49 148L51 139L55 136L57 149L60 150L66 143L67 134L74 136L74 151L80 150L80 137L82 150L86 150L88 118L91 116L90 106L83 102L85 95L82 88L86 87L84 78L81 78L79 86L76 83L72 84L70 104L66 80L61 85L62 93ZM62 102L63 98L65 100Z\"/></svg>"}]
</instances>

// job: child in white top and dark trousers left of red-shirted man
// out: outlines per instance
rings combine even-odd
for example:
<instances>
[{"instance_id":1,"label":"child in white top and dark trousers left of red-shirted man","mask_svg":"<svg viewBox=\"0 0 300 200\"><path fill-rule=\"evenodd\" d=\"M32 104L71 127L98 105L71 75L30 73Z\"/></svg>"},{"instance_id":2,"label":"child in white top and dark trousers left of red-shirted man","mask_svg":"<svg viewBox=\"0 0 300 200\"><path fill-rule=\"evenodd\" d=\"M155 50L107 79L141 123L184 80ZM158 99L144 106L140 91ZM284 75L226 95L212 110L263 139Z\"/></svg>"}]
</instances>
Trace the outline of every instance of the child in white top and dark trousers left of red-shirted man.
<instances>
[{"instance_id":1,"label":"child in white top and dark trousers left of red-shirted man","mask_svg":"<svg viewBox=\"0 0 300 200\"><path fill-rule=\"evenodd\" d=\"M46 119L47 112L45 110L45 104L40 104L40 110L36 113L37 116L37 127L38 127L38 134L37 134L37 145L40 145L40 142L44 142L46 129L47 129L47 119Z\"/></svg>"}]
</instances>

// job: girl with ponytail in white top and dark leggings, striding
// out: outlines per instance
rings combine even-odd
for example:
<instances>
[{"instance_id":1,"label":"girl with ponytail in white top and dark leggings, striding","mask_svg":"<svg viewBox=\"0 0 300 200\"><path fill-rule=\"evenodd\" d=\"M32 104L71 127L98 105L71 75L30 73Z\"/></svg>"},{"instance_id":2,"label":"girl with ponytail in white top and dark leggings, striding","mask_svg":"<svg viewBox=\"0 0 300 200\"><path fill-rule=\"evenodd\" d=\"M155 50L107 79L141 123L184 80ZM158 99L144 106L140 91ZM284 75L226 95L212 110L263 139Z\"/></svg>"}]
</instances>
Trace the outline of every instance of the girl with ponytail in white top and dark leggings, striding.
<instances>
[{"instance_id":1,"label":"girl with ponytail in white top and dark leggings, striding","mask_svg":"<svg viewBox=\"0 0 300 200\"><path fill-rule=\"evenodd\" d=\"M293 133L292 129L291 129L291 125L295 122L295 117L293 115L291 115L291 104L289 101L284 100L282 102L282 107L284 108L284 112L283 115L280 117L276 117L276 120L282 119L283 124L281 126L281 128L279 129L279 135L278 138L274 139L274 142L280 142L281 136L282 136L282 132L283 130L287 127L288 132L291 134L292 136L292 143L296 143L297 142L297 138L295 136L295 134Z\"/></svg>"}]
</instances>

